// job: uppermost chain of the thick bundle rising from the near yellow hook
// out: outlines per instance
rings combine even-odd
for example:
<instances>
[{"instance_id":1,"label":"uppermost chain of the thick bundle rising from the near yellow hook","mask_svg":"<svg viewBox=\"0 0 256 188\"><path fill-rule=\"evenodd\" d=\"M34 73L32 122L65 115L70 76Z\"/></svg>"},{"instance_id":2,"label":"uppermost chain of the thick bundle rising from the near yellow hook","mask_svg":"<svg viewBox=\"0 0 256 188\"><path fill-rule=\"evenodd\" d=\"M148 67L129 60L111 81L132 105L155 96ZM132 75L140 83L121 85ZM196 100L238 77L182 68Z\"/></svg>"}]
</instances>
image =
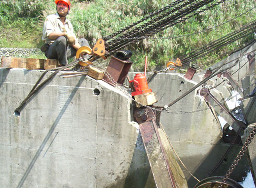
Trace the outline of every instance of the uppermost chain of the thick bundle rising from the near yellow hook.
<instances>
[{"instance_id":1,"label":"uppermost chain of the thick bundle rising from the near yellow hook","mask_svg":"<svg viewBox=\"0 0 256 188\"><path fill-rule=\"evenodd\" d=\"M134 27L136 25L138 25L139 23L141 23L141 22L143 22L145 20L148 20L148 19L158 15L159 13L162 13L163 11L165 11L165 10L167 10L169 8L172 8L173 6L179 4L180 2L183 2L183 0L177 0L175 2L172 2L171 4L167 5L166 7L162 8L162 9L159 9L159 10L149 14L148 16L142 18L141 20L139 20L139 21L137 21L137 22L135 22L135 23L133 23L133 24L131 24L131 25L129 25L129 26L127 26L127 27L125 27L125 28L123 28L123 29L121 29L121 30L119 30L119 31L117 31L117 32L107 36L107 37L104 37L103 40L107 41L107 40L109 40L109 39L111 39L111 38L113 38L113 37L123 33L124 31L126 31L126 30L128 30L128 29L130 29L130 28L132 28L132 27Z\"/></svg>"}]
</instances>

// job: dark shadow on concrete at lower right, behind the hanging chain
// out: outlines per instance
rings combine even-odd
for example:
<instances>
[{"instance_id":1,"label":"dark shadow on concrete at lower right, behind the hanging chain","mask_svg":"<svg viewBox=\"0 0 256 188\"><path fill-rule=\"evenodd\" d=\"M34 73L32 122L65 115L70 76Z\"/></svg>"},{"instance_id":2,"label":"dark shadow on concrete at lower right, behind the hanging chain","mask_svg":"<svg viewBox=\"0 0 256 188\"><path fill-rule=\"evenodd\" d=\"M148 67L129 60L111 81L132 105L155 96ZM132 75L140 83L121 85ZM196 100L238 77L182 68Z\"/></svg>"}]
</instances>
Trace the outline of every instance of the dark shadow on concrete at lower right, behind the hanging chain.
<instances>
[{"instance_id":1,"label":"dark shadow on concrete at lower right, behind the hanging chain","mask_svg":"<svg viewBox=\"0 0 256 188\"><path fill-rule=\"evenodd\" d=\"M218 143L212 147L211 151L208 153L208 155L205 156L202 163L194 172L192 172L192 174L199 180L202 180L207 176L224 176L226 171L229 169L230 165L234 161L235 157L237 156L241 147L241 145L233 145L228 154L224 157L223 161L211 174L209 174L212 169L214 169L216 164L218 164L228 148L227 143L223 143L222 140L218 141ZM193 158L196 158L196 156L193 156ZM185 161L187 159L183 158L182 160ZM243 178L247 176L248 170L249 164L246 156L244 155L229 178L237 182L242 182ZM189 187L194 187L196 183L198 182L192 176L188 179Z\"/></svg>"}]
</instances>

